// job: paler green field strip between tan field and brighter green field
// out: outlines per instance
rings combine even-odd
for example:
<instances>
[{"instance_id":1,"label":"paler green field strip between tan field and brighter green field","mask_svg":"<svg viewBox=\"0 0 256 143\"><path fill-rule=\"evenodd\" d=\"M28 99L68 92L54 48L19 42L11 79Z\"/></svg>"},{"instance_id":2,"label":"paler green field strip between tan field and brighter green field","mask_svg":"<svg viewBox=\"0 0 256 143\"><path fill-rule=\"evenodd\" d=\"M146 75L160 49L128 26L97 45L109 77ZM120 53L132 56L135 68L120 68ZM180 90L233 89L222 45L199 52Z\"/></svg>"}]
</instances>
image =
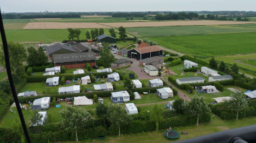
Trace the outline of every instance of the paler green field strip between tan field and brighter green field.
<instances>
[{"instance_id":1,"label":"paler green field strip between tan field and brighter green field","mask_svg":"<svg viewBox=\"0 0 256 143\"><path fill-rule=\"evenodd\" d=\"M241 24L239 26L240 26L239 28L232 25L159 26L159 27L145 27L145 28L126 28L126 31L138 32L138 36L142 36L142 37L256 32L256 24ZM255 26L255 28L250 28L249 26Z\"/></svg>"}]
</instances>

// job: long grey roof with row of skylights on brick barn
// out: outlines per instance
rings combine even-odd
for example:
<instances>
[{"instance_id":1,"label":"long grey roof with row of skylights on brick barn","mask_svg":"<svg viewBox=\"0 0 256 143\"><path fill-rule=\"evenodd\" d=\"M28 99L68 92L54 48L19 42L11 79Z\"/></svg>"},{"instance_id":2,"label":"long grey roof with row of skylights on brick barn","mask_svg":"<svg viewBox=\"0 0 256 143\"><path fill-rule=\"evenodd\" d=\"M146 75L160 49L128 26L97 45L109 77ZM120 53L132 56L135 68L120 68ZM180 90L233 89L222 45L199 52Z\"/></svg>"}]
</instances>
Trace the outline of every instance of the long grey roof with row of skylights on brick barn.
<instances>
[{"instance_id":1,"label":"long grey roof with row of skylights on brick barn","mask_svg":"<svg viewBox=\"0 0 256 143\"><path fill-rule=\"evenodd\" d=\"M93 52L85 53L63 53L53 55L54 63L78 62L85 60L96 60Z\"/></svg>"}]
</instances>

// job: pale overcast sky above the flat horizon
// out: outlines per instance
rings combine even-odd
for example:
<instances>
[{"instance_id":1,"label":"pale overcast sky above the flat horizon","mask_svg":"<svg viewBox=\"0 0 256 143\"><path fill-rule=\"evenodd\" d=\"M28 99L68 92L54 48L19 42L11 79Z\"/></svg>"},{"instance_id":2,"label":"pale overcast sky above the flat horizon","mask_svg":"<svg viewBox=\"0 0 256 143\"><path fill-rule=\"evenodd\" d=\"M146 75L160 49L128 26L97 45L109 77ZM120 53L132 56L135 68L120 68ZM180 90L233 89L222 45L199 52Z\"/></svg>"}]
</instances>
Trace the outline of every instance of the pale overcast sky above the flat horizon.
<instances>
[{"instance_id":1,"label":"pale overcast sky above the flat horizon","mask_svg":"<svg viewBox=\"0 0 256 143\"><path fill-rule=\"evenodd\" d=\"M0 0L1 12L256 11L255 0Z\"/></svg>"}]
</instances>

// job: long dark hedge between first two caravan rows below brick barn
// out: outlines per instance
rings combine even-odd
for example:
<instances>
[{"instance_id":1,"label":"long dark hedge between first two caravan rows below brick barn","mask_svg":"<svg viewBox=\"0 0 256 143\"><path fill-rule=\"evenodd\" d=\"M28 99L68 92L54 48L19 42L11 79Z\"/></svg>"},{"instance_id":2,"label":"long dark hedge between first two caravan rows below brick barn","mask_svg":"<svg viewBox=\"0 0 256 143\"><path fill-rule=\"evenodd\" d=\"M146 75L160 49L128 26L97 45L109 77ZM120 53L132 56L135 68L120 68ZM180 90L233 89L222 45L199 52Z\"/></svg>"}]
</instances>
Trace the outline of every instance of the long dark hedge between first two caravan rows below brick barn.
<instances>
[{"instance_id":1,"label":"long dark hedge between first two caravan rows below brick barn","mask_svg":"<svg viewBox=\"0 0 256 143\"><path fill-rule=\"evenodd\" d=\"M107 73L107 72L103 72L103 73L98 73L98 72L95 72L93 73L94 76L97 76L97 77L107 77L107 74L111 74L111 73ZM90 76L91 73L83 73L83 74L58 74L58 75L48 75L48 76L27 76L27 77L24 77L25 79L27 79L27 83L40 83L40 82L45 82L47 78L52 78L52 77L60 77L60 79L62 77L65 77L66 80L73 80L74 78L75 79L78 79L81 77L85 77L85 76ZM92 79L91 79L92 80Z\"/></svg>"}]
</instances>

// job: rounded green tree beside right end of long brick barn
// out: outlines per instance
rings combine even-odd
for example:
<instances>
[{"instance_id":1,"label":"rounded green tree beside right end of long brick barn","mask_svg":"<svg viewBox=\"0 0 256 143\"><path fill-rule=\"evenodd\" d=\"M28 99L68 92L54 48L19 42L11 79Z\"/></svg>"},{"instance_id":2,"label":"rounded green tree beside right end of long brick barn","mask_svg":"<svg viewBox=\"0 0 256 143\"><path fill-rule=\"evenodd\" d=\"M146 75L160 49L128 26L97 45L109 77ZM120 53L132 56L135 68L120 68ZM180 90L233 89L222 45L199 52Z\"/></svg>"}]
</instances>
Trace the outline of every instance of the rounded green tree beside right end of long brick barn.
<instances>
[{"instance_id":1,"label":"rounded green tree beside right end of long brick barn","mask_svg":"<svg viewBox=\"0 0 256 143\"><path fill-rule=\"evenodd\" d=\"M110 49L107 48L107 45L105 45L102 49L100 49L99 61L106 68L110 68L111 64L116 61Z\"/></svg>"}]
</instances>

